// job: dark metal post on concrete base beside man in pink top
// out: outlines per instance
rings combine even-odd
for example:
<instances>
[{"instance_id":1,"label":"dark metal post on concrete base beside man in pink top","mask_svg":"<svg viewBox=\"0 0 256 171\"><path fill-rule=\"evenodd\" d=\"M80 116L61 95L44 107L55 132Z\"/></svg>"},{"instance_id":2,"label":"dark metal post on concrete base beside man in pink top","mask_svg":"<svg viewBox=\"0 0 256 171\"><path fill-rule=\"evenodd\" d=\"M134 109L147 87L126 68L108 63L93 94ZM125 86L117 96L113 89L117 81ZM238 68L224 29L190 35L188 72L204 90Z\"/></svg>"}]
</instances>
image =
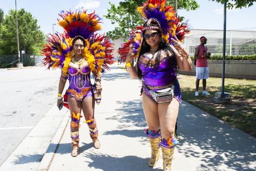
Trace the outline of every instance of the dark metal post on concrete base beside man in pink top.
<instances>
[{"instance_id":1,"label":"dark metal post on concrete base beside man in pink top","mask_svg":"<svg viewBox=\"0 0 256 171\"><path fill-rule=\"evenodd\" d=\"M227 3L224 2L224 28L223 28L223 60L222 60L222 87L221 87L221 98L225 97L224 94L224 82L225 82L225 60L226 60L226 14L227 14Z\"/></svg>"}]
</instances>

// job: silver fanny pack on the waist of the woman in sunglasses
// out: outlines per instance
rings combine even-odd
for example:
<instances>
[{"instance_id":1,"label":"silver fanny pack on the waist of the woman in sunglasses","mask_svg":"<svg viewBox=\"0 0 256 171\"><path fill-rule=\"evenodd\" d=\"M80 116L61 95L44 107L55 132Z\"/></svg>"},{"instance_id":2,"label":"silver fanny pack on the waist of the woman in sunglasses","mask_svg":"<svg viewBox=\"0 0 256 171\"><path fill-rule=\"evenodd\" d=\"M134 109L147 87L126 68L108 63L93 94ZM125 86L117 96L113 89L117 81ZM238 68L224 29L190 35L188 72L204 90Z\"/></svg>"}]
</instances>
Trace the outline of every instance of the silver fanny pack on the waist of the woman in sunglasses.
<instances>
[{"instance_id":1,"label":"silver fanny pack on the waist of the woman in sunglasses","mask_svg":"<svg viewBox=\"0 0 256 171\"><path fill-rule=\"evenodd\" d=\"M148 90L150 90L150 94L153 96L154 100L157 103L168 103L168 102L172 102L173 97L174 97L174 88L175 86L172 85L169 88L165 88L162 90L157 90L154 91L152 90L150 87L148 87L147 85L143 84Z\"/></svg>"}]
</instances>

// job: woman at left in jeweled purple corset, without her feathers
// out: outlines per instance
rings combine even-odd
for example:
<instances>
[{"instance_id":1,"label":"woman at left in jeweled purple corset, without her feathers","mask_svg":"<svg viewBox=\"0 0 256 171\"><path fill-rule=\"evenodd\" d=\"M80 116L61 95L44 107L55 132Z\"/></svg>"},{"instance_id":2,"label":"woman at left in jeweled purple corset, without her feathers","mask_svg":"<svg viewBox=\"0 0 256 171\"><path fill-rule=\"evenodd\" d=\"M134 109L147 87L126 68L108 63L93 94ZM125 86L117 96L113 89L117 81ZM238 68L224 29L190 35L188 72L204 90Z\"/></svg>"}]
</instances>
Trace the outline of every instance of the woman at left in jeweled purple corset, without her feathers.
<instances>
[{"instance_id":1,"label":"woman at left in jeweled purple corset, without her feathers","mask_svg":"<svg viewBox=\"0 0 256 171\"><path fill-rule=\"evenodd\" d=\"M81 109L86 118L86 123L89 126L90 136L93 140L93 146L96 149L100 148L100 142L98 140L98 130L96 127L96 122L94 120L94 106L95 100L92 96L92 88L90 83L90 67L88 62L83 57L84 46L86 42L80 36L77 36L72 41L73 47L73 58L69 63L68 67L68 77L62 71L59 81L58 93L62 94L62 91L65 87L67 79L69 79L69 88L68 92L68 104L71 112L71 139L73 150L71 155L76 157L79 150L79 122L80 122L80 113ZM96 76L96 73L94 73ZM95 77L96 90L101 92L101 78ZM62 98L58 98L57 106L63 104Z\"/></svg>"}]
</instances>

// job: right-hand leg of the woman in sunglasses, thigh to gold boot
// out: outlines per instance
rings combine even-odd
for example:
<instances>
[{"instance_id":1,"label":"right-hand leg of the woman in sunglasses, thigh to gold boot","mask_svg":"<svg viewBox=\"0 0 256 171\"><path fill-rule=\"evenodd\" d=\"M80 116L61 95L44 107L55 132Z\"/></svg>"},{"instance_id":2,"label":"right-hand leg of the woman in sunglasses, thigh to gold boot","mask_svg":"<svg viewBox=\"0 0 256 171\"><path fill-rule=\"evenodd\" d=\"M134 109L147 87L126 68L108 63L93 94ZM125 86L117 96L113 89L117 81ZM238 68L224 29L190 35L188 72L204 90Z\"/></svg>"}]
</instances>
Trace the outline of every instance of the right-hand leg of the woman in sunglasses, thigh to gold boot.
<instances>
[{"instance_id":1,"label":"right-hand leg of the woman in sunglasses, thigh to gold boot","mask_svg":"<svg viewBox=\"0 0 256 171\"><path fill-rule=\"evenodd\" d=\"M163 169L171 170L174 146L178 143L175 138L175 125L179 111L179 102L174 98L171 103L158 104L160 127L162 133Z\"/></svg>"}]
</instances>

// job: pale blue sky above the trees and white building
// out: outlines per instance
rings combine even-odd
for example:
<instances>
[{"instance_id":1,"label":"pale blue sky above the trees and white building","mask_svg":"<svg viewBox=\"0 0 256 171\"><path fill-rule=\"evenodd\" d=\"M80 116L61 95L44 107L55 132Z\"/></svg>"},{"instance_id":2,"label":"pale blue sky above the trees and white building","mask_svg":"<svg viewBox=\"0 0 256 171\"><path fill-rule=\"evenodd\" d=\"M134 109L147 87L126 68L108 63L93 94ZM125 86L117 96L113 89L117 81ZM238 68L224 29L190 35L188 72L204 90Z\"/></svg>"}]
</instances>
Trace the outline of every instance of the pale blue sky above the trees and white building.
<instances>
[{"instance_id":1,"label":"pale blue sky above the trees and white building","mask_svg":"<svg viewBox=\"0 0 256 171\"><path fill-rule=\"evenodd\" d=\"M16 0L17 9L24 8L31 12L37 19L41 31L45 34L53 32L53 23L57 23L58 13L61 10L75 10L79 7L93 10L102 18L102 32L113 30L110 20L103 18L107 8L110 8L108 0ZM111 0L118 4L119 0ZM196 11L178 10L178 14L188 19L191 29L223 29L223 5L208 0L198 0L200 8ZM15 9L15 0L0 0L0 8L7 14L10 9ZM250 8L227 10L227 29L242 29L256 27L256 5ZM22 25L22 23L19 23ZM58 25L54 25L54 31L62 32Z\"/></svg>"}]
</instances>

